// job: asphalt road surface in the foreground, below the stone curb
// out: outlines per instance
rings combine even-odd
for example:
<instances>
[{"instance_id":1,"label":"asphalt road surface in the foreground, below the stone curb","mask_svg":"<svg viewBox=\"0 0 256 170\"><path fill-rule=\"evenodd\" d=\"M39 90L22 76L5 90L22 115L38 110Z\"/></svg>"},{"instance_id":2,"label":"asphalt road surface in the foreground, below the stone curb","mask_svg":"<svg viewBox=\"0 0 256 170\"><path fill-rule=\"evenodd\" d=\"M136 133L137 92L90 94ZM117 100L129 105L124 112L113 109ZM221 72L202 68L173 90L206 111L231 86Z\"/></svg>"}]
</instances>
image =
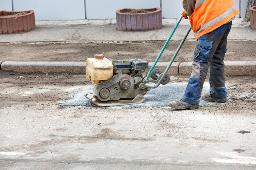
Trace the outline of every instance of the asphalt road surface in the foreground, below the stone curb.
<instances>
[{"instance_id":1,"label":"asphalt road surface in the foreground, below the stone curb","mask_svg":"<svg viewBox=\"0 0 256 170\"><path fill-rule=\"evenodd\" d=\"M167 102L188 77L171 77L140 107L101 108L85 105L84 75L0 72L0 167L255 169L255 80L227 77L226 103L179 111Z\"/></svg>"}]
</instances>

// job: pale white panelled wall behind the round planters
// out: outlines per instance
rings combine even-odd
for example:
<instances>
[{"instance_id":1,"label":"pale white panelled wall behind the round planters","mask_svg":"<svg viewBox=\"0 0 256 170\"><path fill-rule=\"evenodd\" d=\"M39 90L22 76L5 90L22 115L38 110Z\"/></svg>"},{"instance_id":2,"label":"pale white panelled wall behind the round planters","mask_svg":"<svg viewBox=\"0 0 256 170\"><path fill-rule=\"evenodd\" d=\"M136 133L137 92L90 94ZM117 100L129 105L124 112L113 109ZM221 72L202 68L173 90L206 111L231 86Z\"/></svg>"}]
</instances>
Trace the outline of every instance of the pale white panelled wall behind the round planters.
<instances>
[{"instance_id":1,"label":"pale white panelled wall behind the round planters","mask_svg":"<svg viewBox=\"0 0 256 170\"><path fill-rule=\"evenodd\" d=\"M247 1L241 0L242 17ZM239 0L234 2L239 8ZM13 0L14 11L34 10L35 20L114 19L118 9L154 8L161 3L163 18L180 18L182 0ZM0 0L0 10L12 11L12 0Z\"/></svg>"}]
</instances>

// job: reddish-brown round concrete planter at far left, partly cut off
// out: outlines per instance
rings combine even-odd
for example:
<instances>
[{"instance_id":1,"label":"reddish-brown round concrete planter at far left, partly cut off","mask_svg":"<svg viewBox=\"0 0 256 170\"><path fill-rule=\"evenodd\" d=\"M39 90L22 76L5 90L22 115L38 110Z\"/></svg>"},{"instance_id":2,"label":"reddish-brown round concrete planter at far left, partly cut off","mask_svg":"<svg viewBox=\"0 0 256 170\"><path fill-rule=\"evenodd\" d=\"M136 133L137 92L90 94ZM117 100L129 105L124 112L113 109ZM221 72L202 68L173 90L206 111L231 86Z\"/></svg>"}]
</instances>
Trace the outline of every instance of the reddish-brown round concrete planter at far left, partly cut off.
<instances>
[{"instance_id":1,"label":"reddish-brown round concrete planter at far left, partly cut off","mask_svg":"<svg viewBox=\"0 0 256 170\"><path fill-rule=\"evenodd\" d=\"M0 11L0 34L25 32L34 28L35 13L33 10L19 12Z\"/></svg>"}]
</instances>

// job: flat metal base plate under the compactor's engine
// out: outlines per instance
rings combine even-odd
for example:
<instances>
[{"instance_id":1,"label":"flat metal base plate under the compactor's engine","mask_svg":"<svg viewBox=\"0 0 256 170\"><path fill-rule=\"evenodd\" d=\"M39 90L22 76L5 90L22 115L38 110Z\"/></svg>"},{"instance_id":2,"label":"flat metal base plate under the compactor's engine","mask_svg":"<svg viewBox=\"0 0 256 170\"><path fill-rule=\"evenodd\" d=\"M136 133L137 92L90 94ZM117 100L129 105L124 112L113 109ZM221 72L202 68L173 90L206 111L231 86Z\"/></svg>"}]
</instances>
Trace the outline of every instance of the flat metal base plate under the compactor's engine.
<instances>
[{"instance_id":1,"label":"flat metal base plate under the compactor's engine","mask_svg":"<svg viewBox=\"0 0 256 170\"><path fill-rule=\"evenodd\" d=\"M143 95L141 94L138 94L135 98L133 98L133 100L108 100L108 101L99 100L98 97L93 93L84 94L84 96L99 107L138 104L138 103L143 103L145 101Z\"/></svg>"}]
</instances>

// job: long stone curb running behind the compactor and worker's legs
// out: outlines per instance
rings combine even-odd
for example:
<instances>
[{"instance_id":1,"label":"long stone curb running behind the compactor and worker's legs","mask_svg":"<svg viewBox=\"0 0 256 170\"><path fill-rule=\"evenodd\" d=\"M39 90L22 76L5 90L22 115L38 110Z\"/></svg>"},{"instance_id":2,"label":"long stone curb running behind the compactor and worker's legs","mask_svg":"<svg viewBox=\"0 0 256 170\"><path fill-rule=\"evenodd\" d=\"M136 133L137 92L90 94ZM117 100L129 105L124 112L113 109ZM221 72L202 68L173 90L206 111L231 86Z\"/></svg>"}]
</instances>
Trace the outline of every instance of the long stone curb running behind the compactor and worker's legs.
<instances>
[{"instance_id":1,"label":"long stone curb running behind the compactor and worker's legs","mask_svg":"<svg viewBox=\"0 0 256 170\"><path fill-rule=\"evenodd\" d=\"M148 63L149 68L153 63ZM168 64L169 62L158 62L155 68L164 72ZM85 74L86 62L5 61L0 62L0 66L3 72ZM173 62L167 73L169 76L190 75L192 69L192 62ZM256 76L256 61L226 61L225 74L227 76Z\"/></svg>"}]
</instances>

